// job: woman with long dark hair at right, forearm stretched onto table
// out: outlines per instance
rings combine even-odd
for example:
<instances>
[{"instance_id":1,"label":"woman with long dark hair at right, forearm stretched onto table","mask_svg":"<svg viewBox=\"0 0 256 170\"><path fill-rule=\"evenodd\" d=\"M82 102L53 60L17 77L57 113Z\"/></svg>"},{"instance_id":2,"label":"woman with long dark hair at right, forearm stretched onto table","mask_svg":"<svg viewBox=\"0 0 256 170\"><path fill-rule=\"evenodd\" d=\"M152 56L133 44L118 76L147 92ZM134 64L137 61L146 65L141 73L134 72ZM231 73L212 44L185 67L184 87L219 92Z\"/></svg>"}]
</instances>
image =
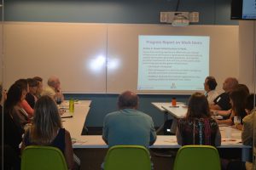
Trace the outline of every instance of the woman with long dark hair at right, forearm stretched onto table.
<instances>
[{"instance_id":1,"label":"woman with long dark hair at right, forearm stretched onto table","mask_svg":"<svg viewBox=\"0 0 256 170\"><path fill-rule=\"evenodd\" d=\"M242 90L241 88L237 88L230 92L230 104L231 114L230 117L226 120L217 120L218 124L226 124L226 125L234 125L234 117L238 116L242 120L244 116L247 115L245 111L245 103L247 99L247 91ZM241 129L242 122L238 123L240 125L236 125L236 128Z\"/></svg>"}]
</instances>

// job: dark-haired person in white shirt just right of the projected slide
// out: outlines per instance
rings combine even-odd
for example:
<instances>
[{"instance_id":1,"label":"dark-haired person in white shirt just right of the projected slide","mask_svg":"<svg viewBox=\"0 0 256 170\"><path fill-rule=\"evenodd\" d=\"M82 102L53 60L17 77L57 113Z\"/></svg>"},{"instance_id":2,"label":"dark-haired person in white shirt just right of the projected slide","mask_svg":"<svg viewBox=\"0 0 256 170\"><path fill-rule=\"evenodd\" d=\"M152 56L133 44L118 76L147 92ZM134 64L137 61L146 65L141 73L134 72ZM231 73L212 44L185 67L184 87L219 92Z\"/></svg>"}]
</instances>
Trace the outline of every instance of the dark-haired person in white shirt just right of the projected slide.
<instances>
[{"instance_id":1,"label":"dark-haired person in white shirt just right of the projected slide","mask_svg":"<svg viewBox=\"0 0 256 170\"><path fill-rule=\"evenodd\" d=\"M207 77L205 79L204 88L206 90L206 96L209 105L214 104L213 100L217 98L218 92L215 90L218 83L216 82L214 77Z\"/></svg>"}]
</instances>

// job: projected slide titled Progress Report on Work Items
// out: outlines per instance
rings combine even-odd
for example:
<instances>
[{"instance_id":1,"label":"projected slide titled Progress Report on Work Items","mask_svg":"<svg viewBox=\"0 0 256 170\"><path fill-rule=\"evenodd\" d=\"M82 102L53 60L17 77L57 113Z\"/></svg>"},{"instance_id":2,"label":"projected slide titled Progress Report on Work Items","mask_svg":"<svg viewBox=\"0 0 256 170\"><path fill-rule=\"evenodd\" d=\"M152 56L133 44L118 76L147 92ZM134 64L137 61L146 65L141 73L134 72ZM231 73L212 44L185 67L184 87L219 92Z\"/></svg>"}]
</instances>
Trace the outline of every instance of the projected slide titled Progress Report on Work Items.
<instances>
[{"instance_id":1,"label":"projected slide titled Progress Report on Work Items","mask_svg":"<svg viewBox=\"0 0 256 170\"><path fill-rule=\"evenodd\" d=\"M210 37L139 36L138 90L203 90Z\"/></svg>"}]
</instances>

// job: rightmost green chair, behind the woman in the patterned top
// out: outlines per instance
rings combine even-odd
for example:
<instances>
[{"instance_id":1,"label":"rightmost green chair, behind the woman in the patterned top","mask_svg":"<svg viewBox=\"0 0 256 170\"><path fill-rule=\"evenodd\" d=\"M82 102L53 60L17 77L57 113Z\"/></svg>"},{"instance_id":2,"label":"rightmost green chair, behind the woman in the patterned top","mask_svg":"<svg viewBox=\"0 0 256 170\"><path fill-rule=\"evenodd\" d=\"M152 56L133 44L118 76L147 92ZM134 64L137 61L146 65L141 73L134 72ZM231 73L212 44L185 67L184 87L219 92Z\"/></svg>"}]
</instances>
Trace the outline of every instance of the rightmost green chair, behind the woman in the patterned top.
<instances>
[{"instance_id":1,"label":"rightmost green chair, behind the woman in the patterned top","mask_svg":"<svg viewBox=\"0 0 256 170\"><path fill-rule=\"evenodd\" d=\"M210 145L185 145L177 151L174 170L220 170L218 150Z\"/></svg>"}]
</instances>

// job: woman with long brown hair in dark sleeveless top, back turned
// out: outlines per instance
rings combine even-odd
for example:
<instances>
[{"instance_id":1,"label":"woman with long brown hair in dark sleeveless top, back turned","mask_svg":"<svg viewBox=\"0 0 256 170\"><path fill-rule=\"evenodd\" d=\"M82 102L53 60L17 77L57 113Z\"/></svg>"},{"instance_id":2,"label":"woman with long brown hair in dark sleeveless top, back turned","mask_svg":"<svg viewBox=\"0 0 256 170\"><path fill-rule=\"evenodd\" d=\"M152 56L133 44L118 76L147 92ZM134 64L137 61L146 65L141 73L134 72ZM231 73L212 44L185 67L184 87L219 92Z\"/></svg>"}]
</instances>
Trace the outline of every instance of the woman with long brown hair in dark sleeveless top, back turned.
<instances>
[{"instance_id":1,"label":"woman with long brown hair in dark sleeveless top, back turned","mask_svg":"<svg viewBox=\"0 0 256 170\"><path fill-rule=\"evenodd\" d=\"M73 169L73 148L70 133L61 125L61 116L55 101L42 96L35 105L32 126L26 131L21 150L28 145L50 145L60 149L68 169Z\"/></svg>"}]
</instances>

